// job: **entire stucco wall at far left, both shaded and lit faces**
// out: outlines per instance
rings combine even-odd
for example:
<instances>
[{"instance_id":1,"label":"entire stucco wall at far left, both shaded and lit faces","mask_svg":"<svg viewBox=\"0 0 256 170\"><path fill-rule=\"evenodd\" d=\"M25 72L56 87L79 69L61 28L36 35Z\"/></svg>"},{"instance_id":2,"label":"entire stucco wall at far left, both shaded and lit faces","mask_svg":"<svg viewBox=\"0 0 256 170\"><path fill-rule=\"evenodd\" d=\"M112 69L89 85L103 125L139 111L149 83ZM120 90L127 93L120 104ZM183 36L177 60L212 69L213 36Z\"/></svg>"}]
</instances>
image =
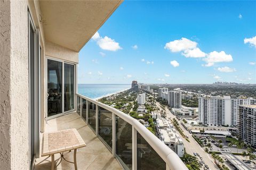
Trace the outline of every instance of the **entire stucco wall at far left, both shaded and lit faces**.
<instances>
[{"instance_id":1,"label":"entire stucco wall at far left, both shaded and lit faces","mask_svg":"<svg viewBox=\"0 0 256 170\"><path fill-rule=\"evenodd\" d=\"M27 16L27 1L0 1L0 169L29 169Z\"/></svg>"}]
</instances>

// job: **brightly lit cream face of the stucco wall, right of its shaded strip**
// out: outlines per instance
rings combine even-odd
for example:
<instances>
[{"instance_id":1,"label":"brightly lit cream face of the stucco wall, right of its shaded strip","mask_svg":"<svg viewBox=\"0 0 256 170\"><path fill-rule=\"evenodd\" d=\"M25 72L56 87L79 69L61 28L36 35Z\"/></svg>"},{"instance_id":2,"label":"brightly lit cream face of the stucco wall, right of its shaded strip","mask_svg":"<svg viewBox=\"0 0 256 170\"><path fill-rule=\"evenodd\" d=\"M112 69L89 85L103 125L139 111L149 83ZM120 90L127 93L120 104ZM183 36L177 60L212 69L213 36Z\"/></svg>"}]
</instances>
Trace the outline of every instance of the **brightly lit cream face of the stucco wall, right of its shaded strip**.
<instances>
[{"instance_id":1,"label":"brightly lit cream face of the stucco wall, right of its shaded strip","mask_svg":"<svg viewBox=\"0 0 256 170\"><path fill-rule=\"evenodd\" d=\"M28 4L11 1L11 168L29 169Z\"/></svg>"}]
</instances>

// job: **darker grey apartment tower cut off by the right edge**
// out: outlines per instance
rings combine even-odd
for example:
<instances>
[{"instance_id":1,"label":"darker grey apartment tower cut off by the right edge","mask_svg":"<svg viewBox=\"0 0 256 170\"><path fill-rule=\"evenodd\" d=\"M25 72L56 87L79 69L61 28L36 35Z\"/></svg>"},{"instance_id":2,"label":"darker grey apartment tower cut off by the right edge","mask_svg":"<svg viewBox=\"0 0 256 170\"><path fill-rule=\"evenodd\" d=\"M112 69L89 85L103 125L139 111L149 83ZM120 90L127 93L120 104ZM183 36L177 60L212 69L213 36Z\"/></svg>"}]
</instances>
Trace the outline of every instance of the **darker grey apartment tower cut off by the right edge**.
<instances>
[{"instance_id":1,"label":"darker grey apartment tower cut off by the right edge","mask_svg":"<svg viewBox=\"0 0 256 170\"><path fill-rule=\"evenodd\" d=\"M247 144L256 148L256 105L239 106L238 135Z\"/></svg>"}]
</instances>

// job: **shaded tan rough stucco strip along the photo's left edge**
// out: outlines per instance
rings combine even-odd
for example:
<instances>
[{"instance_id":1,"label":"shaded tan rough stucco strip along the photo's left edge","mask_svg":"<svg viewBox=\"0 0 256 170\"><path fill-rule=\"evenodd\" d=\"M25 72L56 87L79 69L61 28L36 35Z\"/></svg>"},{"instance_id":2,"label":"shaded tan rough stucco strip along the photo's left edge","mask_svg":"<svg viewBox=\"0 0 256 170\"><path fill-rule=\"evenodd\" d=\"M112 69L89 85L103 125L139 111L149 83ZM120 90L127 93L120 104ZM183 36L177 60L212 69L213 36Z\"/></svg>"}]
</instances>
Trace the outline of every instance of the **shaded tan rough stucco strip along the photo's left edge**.
<instances>
[{"instance_id":1,"label":"shaded tan rough stucco strip along the photo's left edge","mask_svg":"<svg viewBox=\"0 0 256 170\"><path fill-rule=\"evenodd\" d=\"M10 1L0 1L0 169L11 167Z\"/></svg>"}]
</instances>

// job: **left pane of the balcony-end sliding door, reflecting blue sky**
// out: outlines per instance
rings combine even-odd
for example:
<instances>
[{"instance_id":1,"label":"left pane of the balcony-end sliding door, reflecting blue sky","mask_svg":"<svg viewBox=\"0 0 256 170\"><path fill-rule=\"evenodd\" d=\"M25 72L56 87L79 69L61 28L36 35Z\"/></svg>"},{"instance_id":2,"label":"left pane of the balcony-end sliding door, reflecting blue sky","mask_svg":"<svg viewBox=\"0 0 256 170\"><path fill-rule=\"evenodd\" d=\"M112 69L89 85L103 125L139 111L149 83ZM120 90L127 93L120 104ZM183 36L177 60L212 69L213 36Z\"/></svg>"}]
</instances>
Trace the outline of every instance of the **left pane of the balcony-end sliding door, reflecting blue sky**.
<instances>
[{"instance_id":1,"label":"left pane of the balcony-end sliding door, reflecting blue sky","mask_svg":"<svg viewBox=\"0 0 256 170\"><path fill-rule=\"evenodd\" d=\"M62 113L62 62L47 60L48 117Z\"/></svg>"}]
</instances>

